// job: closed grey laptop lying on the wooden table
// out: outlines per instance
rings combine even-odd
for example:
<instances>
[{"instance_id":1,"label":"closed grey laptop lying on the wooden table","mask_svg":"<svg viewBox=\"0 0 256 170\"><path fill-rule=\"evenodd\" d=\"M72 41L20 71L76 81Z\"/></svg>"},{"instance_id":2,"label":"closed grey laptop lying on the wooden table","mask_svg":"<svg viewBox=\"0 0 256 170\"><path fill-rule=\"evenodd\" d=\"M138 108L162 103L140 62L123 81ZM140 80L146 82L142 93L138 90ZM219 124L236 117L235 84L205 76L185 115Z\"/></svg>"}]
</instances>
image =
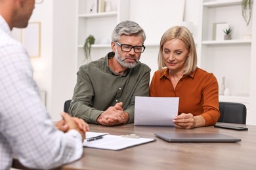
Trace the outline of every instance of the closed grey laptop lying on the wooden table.
<instances>
[{"instance_id":1,"label":"closed grey laptop lying on the wooden table","mask_svg":"<svg viewBox=\"0 0 256 170\"><path fill-rule=\"evenodd\" d=\"M221 133L155 133L169 143L235 143L241 139Z\"/></svg>"}]
</instances>

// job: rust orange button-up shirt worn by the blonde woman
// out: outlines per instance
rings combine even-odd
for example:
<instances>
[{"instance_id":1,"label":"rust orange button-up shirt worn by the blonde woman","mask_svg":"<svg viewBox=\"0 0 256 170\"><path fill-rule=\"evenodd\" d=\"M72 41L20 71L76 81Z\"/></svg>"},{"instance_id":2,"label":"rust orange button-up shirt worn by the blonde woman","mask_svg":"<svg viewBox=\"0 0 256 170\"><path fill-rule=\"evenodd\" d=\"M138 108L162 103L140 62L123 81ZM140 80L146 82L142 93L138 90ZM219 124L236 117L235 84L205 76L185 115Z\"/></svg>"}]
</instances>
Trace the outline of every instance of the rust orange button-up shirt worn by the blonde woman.
<instances>
[{"instance_id":1,"label":"rust orange button-up shirt worn by the blonde woman","mask_svg":"<svg viewBox=\"0 0 256 170\"><path fill-rule=\"evenodd\" d=\"M182 76L175 89L168 69L156 71L150 84L152 97L179 97L178 114L202 115L205 126L216 124L219 119L219 86L213 73L197 68L190 75Z\"/></svg>"}]
</instances>

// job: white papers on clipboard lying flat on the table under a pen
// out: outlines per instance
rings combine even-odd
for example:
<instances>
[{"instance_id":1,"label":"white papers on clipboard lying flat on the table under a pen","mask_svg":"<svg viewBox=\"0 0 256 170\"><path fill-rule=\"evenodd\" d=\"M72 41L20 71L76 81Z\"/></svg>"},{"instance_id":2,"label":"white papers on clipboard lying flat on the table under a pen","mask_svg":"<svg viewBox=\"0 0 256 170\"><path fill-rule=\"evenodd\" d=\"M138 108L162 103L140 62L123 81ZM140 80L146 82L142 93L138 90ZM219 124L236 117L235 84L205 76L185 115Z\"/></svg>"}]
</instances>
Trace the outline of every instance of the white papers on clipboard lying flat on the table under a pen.
<instances>
[{"instance_id":1,"label":"white papers on clipboard lying flat on the table under a pen","mask_svg":"<svg viewBox=\"0 0 256 170\"><path fill-rule=\"evenodd\" d=\"M108 133L96 133L91 131L87 131L86 136L87 138L83 141L83 146L106 150L122 150L131 146L156 141L156 139L138 137L136 135L110 135ZM101 137L96 139L96 137L99 136ZM93 137L95 140L90 141Z\"/></svg>"}]
</instances>

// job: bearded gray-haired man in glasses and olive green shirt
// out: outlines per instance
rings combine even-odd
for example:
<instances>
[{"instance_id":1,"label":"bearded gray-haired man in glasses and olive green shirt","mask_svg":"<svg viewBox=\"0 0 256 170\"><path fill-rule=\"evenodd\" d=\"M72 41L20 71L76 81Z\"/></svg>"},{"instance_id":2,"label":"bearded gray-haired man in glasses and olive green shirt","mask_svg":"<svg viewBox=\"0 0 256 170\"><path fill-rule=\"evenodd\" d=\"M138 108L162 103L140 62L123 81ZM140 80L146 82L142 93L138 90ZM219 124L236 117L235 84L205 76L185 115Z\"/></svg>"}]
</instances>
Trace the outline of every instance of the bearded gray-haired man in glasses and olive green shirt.
<instances>
[{"instance_id":1,"label":"bearded gray-haired man in glasses and olive green shirt","mask_svg":"<svg viewBox=\"0 0 256 170\"><path fill-rule=\"evenodd\" d=\"M82 65L70 115L87 123L117 126L134 122L135 96L148 96L150 68L139 61L146 35L139 24L119 23L104 58Z\"/></svg>"}]
</instances>

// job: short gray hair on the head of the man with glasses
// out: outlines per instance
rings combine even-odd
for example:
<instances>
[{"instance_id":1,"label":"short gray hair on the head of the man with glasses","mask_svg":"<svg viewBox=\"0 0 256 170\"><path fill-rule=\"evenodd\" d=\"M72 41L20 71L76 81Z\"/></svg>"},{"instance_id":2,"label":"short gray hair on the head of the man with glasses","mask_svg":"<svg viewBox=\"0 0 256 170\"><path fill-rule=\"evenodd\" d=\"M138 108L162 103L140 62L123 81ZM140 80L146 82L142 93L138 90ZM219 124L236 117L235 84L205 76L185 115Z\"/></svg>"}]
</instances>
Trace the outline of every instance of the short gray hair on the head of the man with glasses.
<instances>
[{"instance_id":1,"label":"short gray hair on the head of the man with glasses","mask_svg":"<svg viewBox=\"0 0 256 170\"><path fill-rule=\"evenodd\" d=\"M140 27L139 24L133 21L123 21L116 25L113 33L112 33L112 41L119 41L121 35L141 35L143 39L143 43L146 40L146 34L144 29Z\"/></svg>"}]
</instances>

